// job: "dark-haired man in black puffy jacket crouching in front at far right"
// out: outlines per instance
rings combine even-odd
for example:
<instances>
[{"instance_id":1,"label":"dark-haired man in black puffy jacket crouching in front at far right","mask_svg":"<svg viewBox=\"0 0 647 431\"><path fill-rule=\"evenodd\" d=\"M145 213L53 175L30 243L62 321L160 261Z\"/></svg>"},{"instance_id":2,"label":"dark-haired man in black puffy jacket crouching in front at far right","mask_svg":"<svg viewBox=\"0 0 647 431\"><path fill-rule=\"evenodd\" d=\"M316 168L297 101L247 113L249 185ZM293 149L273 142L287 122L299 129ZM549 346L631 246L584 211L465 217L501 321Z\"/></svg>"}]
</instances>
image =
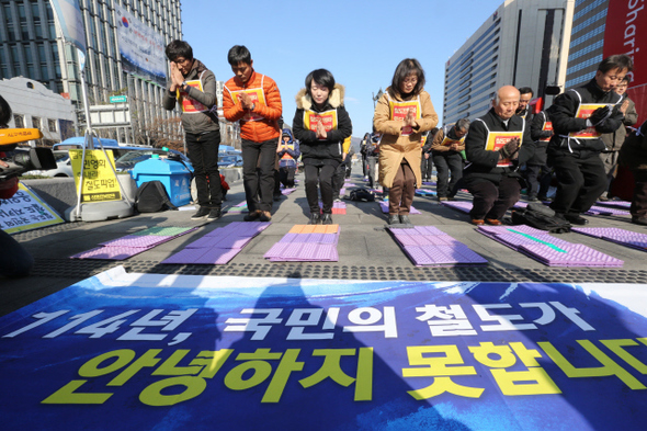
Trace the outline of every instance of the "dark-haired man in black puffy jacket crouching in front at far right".
<instances>
[{"instance_id":1,"label":"dark-haired man in black puffy jacket crouching in front at far right","mask_svg":"<svg viewBox=\"0 0 647 431\"><path fill-rule=\"evenodd\" d=\"M589 211L606 189L600 159L605 146L600 136L622 125L622 99L613 89L633 67L627 55L608 57L591 81L560 94L548 109L555 131L547 150L548 165L558 181L550 207L575 225L589 223L580 214Z\"/></svg>"}]
</instances>

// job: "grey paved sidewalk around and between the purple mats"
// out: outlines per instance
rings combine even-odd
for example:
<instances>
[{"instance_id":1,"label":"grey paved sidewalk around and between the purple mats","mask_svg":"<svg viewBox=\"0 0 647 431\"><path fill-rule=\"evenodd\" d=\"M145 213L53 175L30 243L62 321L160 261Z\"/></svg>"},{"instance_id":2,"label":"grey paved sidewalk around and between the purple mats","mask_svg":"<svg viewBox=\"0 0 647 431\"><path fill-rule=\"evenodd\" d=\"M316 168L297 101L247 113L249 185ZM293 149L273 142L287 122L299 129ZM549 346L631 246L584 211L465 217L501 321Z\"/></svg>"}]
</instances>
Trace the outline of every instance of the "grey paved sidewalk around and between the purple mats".
<instances>
[{"instance_id":1,"label":"grey paved sidewalk around and between the purple mats","mask_svg":"<svg viewBox=\"0 0 647 431\"><path fill-rule=\"evenodd\" d=\"M193 222L191 211L167 211L138 216L98 222L75 223L18 234L14 237L34 256L36 265L30 277L0 279L0 315L8 314L41 297L64 288L79 280L106 269L123 265L128 272L178 273L196 275L238 275L309 279L356 280L425 280L425 281L530 281L530 282L602 282L647 283L645 251L613 242L569 232L558 237L569 242L587 245L624 261L622 269L549 268L498 243L476 231L467 214L447 208L433 196L416 196L413 206L421 212L411 215L415 225L435 226L465 243L489 262L485 268L417 268L402 252L393 236L384 229L386 215L377 202L345 201L347 214L333 215L341 236L338 262L269 262L263 254L294 225L307 224L309 212L302 180L296 191L274 203L272 225L245 247L226 265L160 264L217 227L241 222L245 214L227 213L217 222ZM350 180L365 186L359 175ZM435 191L435 186L424 186ZM347 196L352 188L347 188ZM227 206L245 201L242 183L232 184ZM468 201L466 193L459 200ZM617 227L647 232L645 227L629 223L629 216L587 216L588 227ZM152 226L200 226L189 235L164 242L125 261L71 260L70 256L90 250L100 242L121 238Z\"/></svg>"}]
</instances>

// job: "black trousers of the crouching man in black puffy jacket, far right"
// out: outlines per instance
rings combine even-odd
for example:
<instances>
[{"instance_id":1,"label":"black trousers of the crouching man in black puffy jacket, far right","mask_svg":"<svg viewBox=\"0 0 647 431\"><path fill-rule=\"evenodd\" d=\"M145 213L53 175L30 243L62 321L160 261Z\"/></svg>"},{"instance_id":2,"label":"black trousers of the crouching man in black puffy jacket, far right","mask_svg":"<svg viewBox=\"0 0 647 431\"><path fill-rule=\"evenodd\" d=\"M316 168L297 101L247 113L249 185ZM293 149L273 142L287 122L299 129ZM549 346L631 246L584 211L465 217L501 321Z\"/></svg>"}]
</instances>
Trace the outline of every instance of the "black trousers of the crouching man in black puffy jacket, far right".
<instances>
[{"instance_id":1,"label":"black trousers of the crouching man in black puffy jacket, far right","mask_svg":"<svg viewBox=\"0 0 647 431\"><path fill-rule=\"evenodd\" d=\"M548 154L548 162L557 177L557 193L550 204L556 213L586 213L606 190L606 173L597 152L578 158L554 151Z\"/></svg>"}]
</instances>

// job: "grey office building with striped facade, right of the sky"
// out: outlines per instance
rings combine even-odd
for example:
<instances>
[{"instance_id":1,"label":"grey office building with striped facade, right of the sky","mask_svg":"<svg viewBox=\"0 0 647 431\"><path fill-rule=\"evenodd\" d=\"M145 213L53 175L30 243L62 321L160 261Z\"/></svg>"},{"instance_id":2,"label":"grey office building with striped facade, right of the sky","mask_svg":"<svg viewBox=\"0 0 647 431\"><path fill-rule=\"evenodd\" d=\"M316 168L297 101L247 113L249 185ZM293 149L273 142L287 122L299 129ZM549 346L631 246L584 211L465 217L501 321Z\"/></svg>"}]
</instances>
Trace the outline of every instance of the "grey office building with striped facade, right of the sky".
<instances>
[{"instance_id":1,"label":"grey office building with striped facade, right of the sky","mask_svg":"<svg viewBox=\"0 0 647 431\"><path fill-rule=\"evenodd\" d=\"M575 0L506 0L445 64L443 123L484 115L498 88L564 86Z\"/></svg>"}]
</instances>

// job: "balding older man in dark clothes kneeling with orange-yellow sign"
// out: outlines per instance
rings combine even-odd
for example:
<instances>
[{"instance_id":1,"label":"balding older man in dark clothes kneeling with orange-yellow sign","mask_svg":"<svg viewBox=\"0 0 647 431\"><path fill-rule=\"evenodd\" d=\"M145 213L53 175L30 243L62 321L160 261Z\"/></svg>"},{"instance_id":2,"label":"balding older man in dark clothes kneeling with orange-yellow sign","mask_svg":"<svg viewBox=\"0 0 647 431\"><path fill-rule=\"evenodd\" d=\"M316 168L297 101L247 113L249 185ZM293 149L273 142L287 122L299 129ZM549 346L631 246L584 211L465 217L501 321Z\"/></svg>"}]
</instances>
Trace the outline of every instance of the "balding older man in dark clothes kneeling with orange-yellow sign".
<instances>
[{"instance_id":1,"label":"balding older man in dark clothes kneeling with orange-yellow sign","mask_svg":"<svg viewBox=\"0 0 647 431\"><path fill-rule=\"evenodd\" d=\"M465 138L467 167L463 181L474 196L472 223L501 225L506 212L521 197L519 166L534 154L525 121L514 115L520 93L512 86L501 87L492 107L469 126Z\"/></svg>"}]
</instances>

